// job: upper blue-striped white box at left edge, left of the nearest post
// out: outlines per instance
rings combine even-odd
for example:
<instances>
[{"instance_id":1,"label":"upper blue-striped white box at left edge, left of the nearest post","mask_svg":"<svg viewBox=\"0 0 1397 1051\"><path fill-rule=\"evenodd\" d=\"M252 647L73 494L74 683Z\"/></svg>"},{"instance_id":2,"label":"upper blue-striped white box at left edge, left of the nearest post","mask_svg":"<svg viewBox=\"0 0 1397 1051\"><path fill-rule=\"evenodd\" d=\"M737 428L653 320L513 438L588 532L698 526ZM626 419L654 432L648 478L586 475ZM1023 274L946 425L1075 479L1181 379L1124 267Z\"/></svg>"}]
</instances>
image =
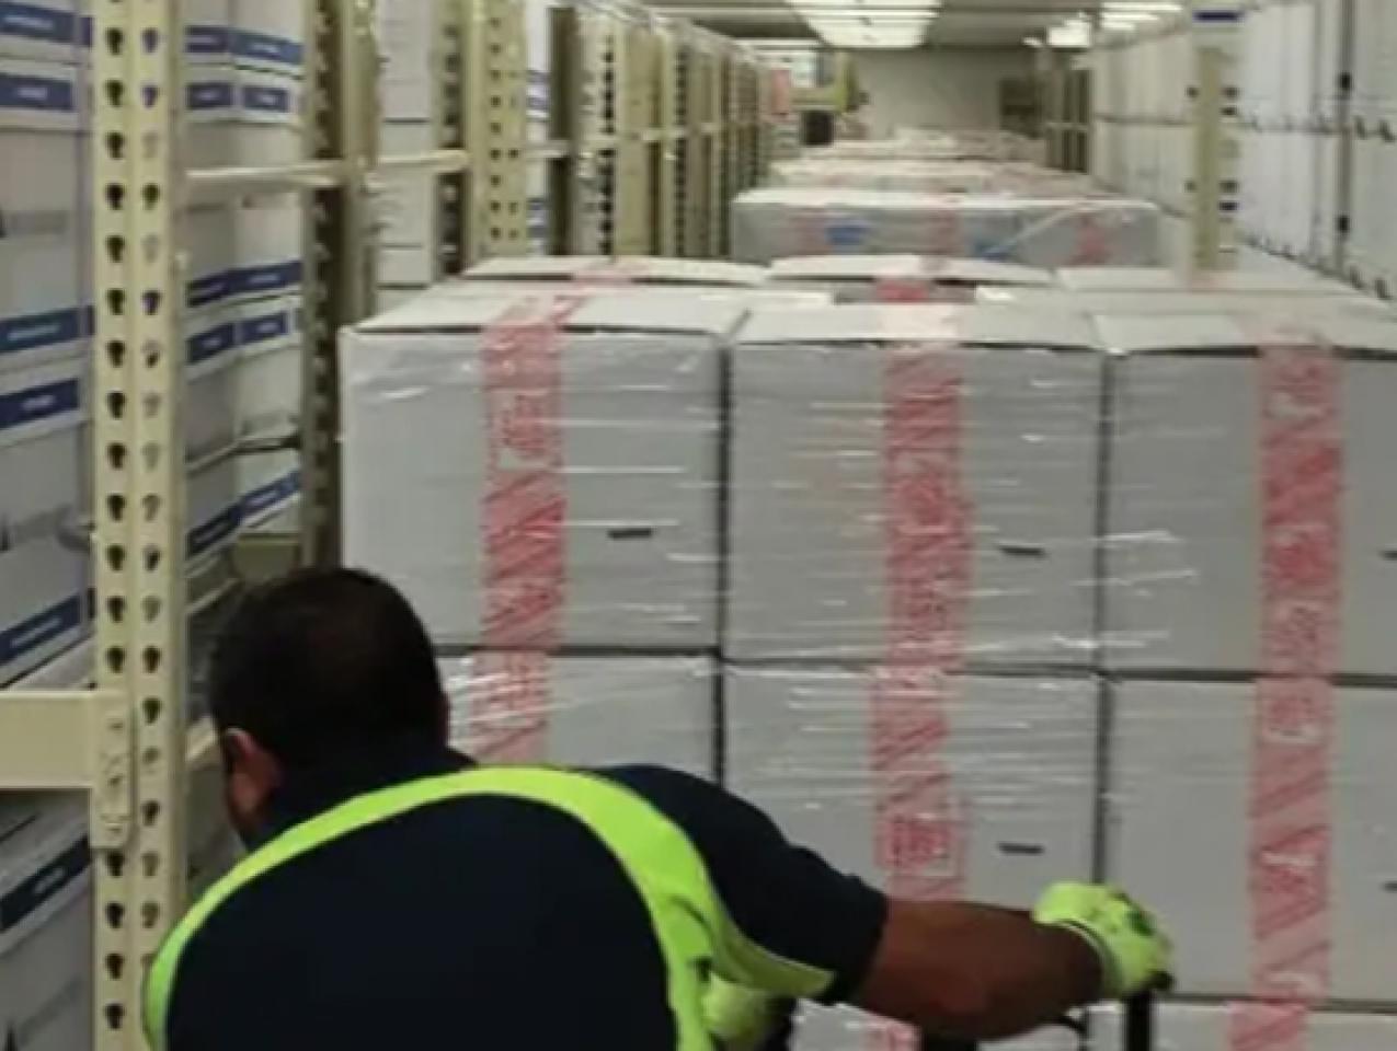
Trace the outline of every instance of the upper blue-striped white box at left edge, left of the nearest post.
<instances>
[{"instance_id":1,"label":"upper blue-striped white box at left edge, left of the nearest post","mask_svg":"<svg viewBox=\"0 0 1397 1051\"><path fill-rule=\"evenodd\" d=\"M0 371L82 345L80 131L77 70L0 59Z\"/></svg>"}]
</instances>

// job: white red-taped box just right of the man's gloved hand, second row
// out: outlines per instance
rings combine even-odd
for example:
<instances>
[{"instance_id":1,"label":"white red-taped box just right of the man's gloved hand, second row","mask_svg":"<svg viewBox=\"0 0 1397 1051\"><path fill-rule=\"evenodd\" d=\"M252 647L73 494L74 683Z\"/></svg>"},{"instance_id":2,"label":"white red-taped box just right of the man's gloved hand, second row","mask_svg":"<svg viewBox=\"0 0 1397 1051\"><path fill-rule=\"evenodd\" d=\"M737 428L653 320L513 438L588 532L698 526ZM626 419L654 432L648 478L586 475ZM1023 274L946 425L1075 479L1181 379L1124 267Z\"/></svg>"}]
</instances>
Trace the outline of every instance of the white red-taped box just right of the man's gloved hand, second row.
<instances>
[{"instance_id":1,"label":"white red-taped box just right of the man's gloved hand, second row","mask_svg":"<svg viewBox=\"0 0 1397 1051\"><path fill-rule=\"evenodd\" d=\"M1162 916L1183 992L1250 995L1278 960L1288 998L1387 1001L1397 691L1285 685L1116 688L1108 875Z\"/></svg>"}]
</instances>

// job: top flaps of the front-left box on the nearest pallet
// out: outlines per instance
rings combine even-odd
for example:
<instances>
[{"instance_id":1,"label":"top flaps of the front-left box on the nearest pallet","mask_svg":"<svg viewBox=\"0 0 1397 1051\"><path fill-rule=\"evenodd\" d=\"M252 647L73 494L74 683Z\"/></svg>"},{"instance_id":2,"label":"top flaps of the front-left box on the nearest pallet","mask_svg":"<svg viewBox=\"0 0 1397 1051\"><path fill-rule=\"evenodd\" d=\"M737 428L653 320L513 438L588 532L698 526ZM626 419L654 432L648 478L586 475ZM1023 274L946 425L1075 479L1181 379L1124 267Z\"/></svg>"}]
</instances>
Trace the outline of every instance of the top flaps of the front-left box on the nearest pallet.
<instances>
[{"instance_id":1,"label":"top flaps of the front-left box on the nearest pallet","mask_svg":"<svg viewBox=\"0 0 1397 1051\"><path fill-rule=\"evenodd\" d=\"M745 293L669 292L650 289L636 295L629 289L588 289L521 292L517 295L476 297L471 295L420 296L409 303L358 325L359 332L478 332L506 320L511 310L529 306L542 310L549 303L581 299L567 318L571 332L615 329L634 332L689 332L726 335L747 313Z\"/></svg>"}]
</instances>

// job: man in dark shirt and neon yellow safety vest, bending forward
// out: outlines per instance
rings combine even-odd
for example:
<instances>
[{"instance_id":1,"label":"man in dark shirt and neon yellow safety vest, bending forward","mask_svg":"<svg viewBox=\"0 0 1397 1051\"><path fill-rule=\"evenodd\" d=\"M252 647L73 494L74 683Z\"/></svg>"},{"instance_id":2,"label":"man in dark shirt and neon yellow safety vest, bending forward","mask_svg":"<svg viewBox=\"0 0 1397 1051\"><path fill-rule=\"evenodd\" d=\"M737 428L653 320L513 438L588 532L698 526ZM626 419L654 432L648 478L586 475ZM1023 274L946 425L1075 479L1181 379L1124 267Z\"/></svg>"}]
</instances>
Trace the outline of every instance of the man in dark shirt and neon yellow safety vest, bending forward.
<instances>
[{"instance_id":1,"label":"man in dark shirt and neon yellow safety vest, bending forward","mask_svg":"<svg viewBox=\"0 0 1397 1051\"><path fill-rule=\"evenodd\" d=\"M1108 888L893 900L686 775L476 766L420 621L365 574L254 592L210 701L251 853L151 967L155 1048L707 1051L766 998L999 1038L1169 970Z\"/></svg>"}]
</instances>

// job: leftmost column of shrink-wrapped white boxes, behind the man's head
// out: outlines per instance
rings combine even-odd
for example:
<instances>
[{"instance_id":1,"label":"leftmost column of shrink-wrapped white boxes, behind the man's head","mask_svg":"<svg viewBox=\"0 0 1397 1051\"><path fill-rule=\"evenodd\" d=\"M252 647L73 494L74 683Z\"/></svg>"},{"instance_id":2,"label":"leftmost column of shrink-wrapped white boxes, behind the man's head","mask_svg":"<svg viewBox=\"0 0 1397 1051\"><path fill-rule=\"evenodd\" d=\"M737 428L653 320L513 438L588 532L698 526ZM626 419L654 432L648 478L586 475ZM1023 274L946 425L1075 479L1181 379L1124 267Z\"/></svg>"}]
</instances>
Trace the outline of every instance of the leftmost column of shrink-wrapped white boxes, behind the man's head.
<instances>
[{"instance_id":1,"label":"leftmost column of shrink-wrapped white boxes, behind the man's head","mask_svg":"<svg viewBox=\"0 0 1397 1051\"><path fill-rule=\"evenodd\" d=\"M346 561L483 758L712 776L725 352L770 293L474 288L344 336Z\"/></svg>"}]
</instances>

